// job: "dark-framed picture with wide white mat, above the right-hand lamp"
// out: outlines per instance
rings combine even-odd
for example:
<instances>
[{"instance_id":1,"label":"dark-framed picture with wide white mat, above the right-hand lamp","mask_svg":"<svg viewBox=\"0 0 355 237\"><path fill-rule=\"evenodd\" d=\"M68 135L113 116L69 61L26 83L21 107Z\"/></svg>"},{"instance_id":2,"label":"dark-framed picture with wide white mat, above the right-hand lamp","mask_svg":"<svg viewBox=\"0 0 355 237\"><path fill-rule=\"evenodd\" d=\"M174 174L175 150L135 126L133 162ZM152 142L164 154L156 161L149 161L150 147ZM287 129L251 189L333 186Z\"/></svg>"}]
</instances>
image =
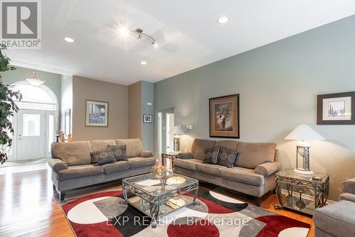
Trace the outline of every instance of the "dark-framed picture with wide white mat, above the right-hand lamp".
<instances>
[{"instance_id":1,"label":"dark-framed picture with wide white mat, above the right-hand lamp","mask_svg":"<svg viewBox=\"0 0 355 237\"><path fill-rule=\"evenodd\" d=\"M320 94L317 98L317 124L355 124L355 92Z\"/></svg>"}]
</instances>

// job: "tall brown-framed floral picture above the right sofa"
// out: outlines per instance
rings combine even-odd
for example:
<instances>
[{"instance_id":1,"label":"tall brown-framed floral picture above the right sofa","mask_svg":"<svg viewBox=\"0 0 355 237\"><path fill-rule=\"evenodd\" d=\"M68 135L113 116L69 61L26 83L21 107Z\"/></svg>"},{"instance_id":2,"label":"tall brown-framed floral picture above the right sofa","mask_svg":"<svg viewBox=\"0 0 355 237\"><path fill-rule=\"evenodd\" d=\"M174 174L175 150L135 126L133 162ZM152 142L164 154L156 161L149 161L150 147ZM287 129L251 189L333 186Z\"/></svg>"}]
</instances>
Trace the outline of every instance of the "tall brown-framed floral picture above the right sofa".
<instances>
[{"instance_id":1,"label":"tall brown-framed floral picture above the right sofa","mask_svg":"<svg viewBox=\"0 0 355 237\"><path fill-rule=\"evenodd\" d=\"M209 99L209 136L239 138L239 94Z\"/></svg>"}]
</instances>

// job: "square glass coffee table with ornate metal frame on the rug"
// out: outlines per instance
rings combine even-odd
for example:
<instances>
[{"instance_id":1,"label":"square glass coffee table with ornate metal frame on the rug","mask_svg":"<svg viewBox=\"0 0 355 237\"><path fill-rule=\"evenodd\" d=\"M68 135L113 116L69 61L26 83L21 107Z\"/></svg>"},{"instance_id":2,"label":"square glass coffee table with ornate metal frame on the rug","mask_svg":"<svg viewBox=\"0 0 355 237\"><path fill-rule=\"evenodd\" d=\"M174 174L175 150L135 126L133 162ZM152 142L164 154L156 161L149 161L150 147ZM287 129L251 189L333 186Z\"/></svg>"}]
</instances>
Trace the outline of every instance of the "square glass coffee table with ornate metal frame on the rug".
<instances>
[{"instance_id":1,"label":"square glass coffee table with ornate metal frame on the rug","mask_svg":"<svg viewBox=\"0 0 355 237\"><path fill-rule=\"evenodd\" d=\"M165 172L163 176L149 173L122 180L125 202L151 217L153 228L159 217L190 204L200 204L196 201L198 187L198 180L173 172ZM192 195L184 195L188 192Z\"/></svg>"}]
</instances>

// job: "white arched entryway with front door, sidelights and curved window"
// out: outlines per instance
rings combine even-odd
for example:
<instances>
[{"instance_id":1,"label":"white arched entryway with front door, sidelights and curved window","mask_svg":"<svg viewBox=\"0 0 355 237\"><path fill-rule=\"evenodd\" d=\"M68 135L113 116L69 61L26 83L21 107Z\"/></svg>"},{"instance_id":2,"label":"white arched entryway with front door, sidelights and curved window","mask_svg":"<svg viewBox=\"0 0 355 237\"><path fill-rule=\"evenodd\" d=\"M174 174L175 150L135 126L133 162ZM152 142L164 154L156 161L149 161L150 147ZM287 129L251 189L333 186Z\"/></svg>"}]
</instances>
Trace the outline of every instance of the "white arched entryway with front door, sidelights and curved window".
<instances>
[{"instance_id":1,"label":"white arched entryway with front door, sidelights and curved window","mask_svg":"<svg viewBox=\"0 0 355 237\"><path fill-rule=\"evenodd\" d=\"M16 101L20 110L12 118L15 131L9 160L48 158L58 130L58 98L45 84L35 87L20 81L12 85L23 99Z\"/></svg>"}]
</instances>

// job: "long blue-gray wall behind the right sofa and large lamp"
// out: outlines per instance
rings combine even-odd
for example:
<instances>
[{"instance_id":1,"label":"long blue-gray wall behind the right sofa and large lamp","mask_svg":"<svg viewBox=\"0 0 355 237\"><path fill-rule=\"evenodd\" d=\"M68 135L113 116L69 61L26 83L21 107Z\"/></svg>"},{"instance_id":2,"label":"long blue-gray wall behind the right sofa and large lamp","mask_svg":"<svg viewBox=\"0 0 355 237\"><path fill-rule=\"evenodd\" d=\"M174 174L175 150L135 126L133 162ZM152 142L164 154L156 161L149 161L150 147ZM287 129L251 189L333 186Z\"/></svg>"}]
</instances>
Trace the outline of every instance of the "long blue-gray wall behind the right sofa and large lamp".
<instances>
[{"instance_id":1,"label":"long blue-gray wall behind the right sofa and large lamp","mask_svg":"<svg viewBox=\"0 0 355 237\"><path fill-rule=\"evenodd\" d=\"M317 126L317 94L355 91L354 29L351 16L157 82L155 109L175 106L175 125L193 126L188 148L209 138L208 99L239 93L240 140L277 143L283 167L295 167L296 141L285 136L307 123L327 138L311 142L311 167L330 175L337 200L355 177L355 126Z\"/></svg>"}]
</instances>

